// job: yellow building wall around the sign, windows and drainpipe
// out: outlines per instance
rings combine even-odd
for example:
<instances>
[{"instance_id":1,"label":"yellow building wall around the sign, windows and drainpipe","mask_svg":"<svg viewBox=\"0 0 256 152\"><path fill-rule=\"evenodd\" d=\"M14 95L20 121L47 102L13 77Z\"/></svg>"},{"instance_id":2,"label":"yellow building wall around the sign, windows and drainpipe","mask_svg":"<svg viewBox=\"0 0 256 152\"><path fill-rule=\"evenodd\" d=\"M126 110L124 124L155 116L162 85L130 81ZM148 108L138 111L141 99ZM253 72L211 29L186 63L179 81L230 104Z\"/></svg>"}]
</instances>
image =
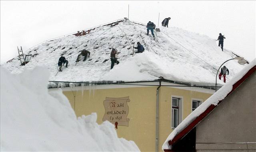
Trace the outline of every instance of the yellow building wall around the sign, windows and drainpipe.
<instances>
[{"instance_id":1,"label":"yellow building wall around the sign, windows and drainpipe","mask_svg":"<svg viewBox=\"0 0 256 152\"><path fill-rule=\"evenodd\" d=\"M102 123L105 114L103 101L106 97L126 97L130 119L129 126L118 126L118 137L126 140L133 140L142 152L155 151L156 139L156 88L136 87L136 88L115 88L80 91L64 91L68 97L76 115L90 115L97 113L97 123ZM167 136L172 132L171 128L171 95L183 97L183 119L192 112L192 98L205 101L211 94L191 92L177 88L161 87L159 95L159 144L158 151L162 151L162 144Z\"/></svg>"}]
</instances>

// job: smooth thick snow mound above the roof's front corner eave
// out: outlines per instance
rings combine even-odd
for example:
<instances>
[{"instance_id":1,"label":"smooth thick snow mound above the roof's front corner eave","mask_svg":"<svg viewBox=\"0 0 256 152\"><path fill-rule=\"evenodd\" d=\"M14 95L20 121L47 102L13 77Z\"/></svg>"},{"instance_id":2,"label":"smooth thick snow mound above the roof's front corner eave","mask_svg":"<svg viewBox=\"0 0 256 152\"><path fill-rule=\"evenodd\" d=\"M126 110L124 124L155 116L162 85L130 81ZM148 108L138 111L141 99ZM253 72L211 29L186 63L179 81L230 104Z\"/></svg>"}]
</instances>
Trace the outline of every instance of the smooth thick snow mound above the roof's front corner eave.
<instances>
[{"instance_id":1,"label":"smooth thick snow mound above the roof's front corner eave","mask_svg":"<svg viewBox=\"0 0 256 152\"><path fill-rule=\"evenodd\" d=\"M204 76L199 77L198 71ZM208 69L191 64L174 64L170 58L159 57L148 51L137 54L126 62L116 65L102 79L110 81L150 81L159 79L159 77L182 82L214 83L215 80L212 78L212 81L210 81L212 72Z\"/></svg>"}]
</instances>

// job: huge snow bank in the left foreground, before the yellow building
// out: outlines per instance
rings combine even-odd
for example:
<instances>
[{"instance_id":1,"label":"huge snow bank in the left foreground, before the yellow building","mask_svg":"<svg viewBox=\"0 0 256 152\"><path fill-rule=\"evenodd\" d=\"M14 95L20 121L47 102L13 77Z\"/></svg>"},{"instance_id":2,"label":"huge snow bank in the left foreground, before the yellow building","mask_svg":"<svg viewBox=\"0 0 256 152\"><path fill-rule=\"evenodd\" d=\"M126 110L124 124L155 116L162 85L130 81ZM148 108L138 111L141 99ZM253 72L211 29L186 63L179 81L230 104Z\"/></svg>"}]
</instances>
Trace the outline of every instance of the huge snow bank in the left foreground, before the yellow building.
<instances>
[{"instance_id":1,"label":"huge snow bank in the left foreground, before the yellow building","mask_svg":"<svg viewBox=\"0 0 256 152\"><path fill-rule=\"evenodd\" d=\"M1 67L1 151L139 151L110 122L98 125L96 113L77 119L61 90L48 93L49 76L42 67L19 75Z\"/></svg>"}]
</instances>

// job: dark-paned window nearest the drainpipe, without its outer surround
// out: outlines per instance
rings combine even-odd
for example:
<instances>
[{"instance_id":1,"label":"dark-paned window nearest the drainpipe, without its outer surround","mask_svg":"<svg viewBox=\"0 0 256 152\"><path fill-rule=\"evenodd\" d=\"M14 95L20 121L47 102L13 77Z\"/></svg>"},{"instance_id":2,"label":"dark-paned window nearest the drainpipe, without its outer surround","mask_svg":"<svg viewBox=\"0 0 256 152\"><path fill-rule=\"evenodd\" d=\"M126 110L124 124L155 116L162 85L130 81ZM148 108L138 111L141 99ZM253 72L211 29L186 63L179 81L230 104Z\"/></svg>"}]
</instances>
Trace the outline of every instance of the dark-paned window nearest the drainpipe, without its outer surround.
<instances>
[{"instance_id":1,"label":"dark-paned window nearest the drainpipe, without its outer surround","mask_svg":"<svg viewBox=\"0 0 256 152\"><path fill-rule=\"evenodd\" d=\"M179 98L172 97L172 128L179 125Z\"/></svg>"}]
</instances>

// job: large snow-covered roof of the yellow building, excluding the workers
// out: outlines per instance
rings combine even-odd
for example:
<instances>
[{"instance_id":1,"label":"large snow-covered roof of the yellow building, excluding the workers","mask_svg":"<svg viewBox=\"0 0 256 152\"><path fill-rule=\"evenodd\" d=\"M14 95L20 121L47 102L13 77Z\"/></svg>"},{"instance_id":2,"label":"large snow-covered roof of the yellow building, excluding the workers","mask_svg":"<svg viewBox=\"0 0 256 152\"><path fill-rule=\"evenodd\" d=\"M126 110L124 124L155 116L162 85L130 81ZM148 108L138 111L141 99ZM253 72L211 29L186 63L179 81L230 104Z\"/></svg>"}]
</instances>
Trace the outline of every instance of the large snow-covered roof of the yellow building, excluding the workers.
<instances>
[{"instance_id":1,"label":"large snow-covered roof of the yellow building, excluding the workers","mask_svg":"<svg viewBox=\"0 0 256 152\"><path fill-rule=\"evenodd\" d=\"M12 73L21 73L25 69L46 66L50 70L50 81L148 81L160 76L167 80L181 82L215 83L218 67L226 60L236 57L232 51L216 45L215 39L206 35L192 33L177 27L159 27L158 41L146 35L146 27L130 21L118 25L98 27L90 34L76 37L69 35L54 39L26 51L32 59L26 66L20 66L18 57L2 64ZM134 54L132 43L140 42L144 53ZM116 48L120 54L120 64L110 70L110 51ZM87 49L91 52L85 62L75 61L78 52ZM135 49L134 49L135 51ZM70 65L57 75L57 63L63 55ZM227 81L244 66L231 60L225 64L230 70ZM56 76L55 76L56 75ZM219 84L223 84L218 80Z\"/></svg>"}]
</instances>

